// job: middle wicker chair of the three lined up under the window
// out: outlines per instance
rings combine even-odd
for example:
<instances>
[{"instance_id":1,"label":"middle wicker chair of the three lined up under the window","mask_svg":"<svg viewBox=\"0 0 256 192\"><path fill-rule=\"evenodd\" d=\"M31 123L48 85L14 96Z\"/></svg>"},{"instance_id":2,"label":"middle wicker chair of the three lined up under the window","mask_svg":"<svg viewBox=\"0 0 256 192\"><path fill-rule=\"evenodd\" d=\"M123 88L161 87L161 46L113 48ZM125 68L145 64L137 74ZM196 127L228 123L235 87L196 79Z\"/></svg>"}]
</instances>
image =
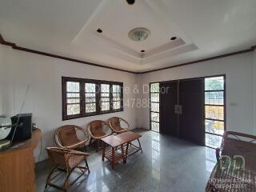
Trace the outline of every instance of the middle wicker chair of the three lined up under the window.
<instances>
[{"instance_id":1,"label":"middle wicker chair of the three lined up under the window","mask_svg":"<svg viewBox=\"0 0 256 192\"><path fill-rule=\"evenodd\" d=\"M101 138L105 138L107 136L109 136L111 134L111 132L108 134L106 132L104 132L104 126L106 126L106 130L111 130L110 129L110 126L104 122L104 121L101 121L101 120L95 120L93 122L90 122L87 126L87 130L90 134L90 143L91 141L94 139L97 143L97 149L96 151L98 151L98 149L100 148L99 147L99 144L98 142L100 141Z\"/></svg>"}]
</instances>

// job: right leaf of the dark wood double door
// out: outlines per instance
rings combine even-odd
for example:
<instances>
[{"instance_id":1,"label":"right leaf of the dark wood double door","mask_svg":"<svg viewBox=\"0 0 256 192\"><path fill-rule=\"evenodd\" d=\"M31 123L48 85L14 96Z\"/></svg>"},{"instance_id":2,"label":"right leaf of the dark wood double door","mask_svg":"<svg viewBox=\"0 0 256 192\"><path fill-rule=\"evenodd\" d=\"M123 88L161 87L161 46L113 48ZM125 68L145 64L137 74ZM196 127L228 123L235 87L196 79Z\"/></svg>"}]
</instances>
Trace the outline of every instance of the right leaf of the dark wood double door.
<instances>
[{"instance_id":1,"label":"right leaf of the dark wood double door","mask_svg":"<svg viewBox=\"0 0 256 192\"><path fill-rule=\"evenodd\" d=\"M181 80L178 82L179 136L190 142L204 145L204 89L203 79Z\"/></svg>"}]
</instances>

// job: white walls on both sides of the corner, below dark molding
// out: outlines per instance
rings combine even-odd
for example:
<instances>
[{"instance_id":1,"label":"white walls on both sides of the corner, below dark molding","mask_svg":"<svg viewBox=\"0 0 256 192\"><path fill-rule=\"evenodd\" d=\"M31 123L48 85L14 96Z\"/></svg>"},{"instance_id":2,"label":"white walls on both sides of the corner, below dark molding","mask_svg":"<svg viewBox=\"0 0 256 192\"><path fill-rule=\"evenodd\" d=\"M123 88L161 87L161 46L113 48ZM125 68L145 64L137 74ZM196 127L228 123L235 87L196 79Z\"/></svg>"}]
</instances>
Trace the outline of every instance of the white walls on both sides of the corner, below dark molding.
<instances>
[{"instance_id":1,"label":"white walls on both sides of the corner, below dark molding","mask_svg":"<svg viewBox=\"0 0 256 192\"><path fill-rule=\"evenodd\" d=\"M124 82L124 86L132 90L136 83L142 88L143 84L148 85L150 82L215 74L226 74L227 130L256 134L256 51L136 75L30 54L0 45L0 114L19 113L26 86L30 85L22 113L32 112L33 121L42 130L40 157L42 161L46 158L46 146L54 145L54 130L62 125L75 124L85 127L94 119L106 120L117 115L126 118L131 128L150 128L149 108L136 108L136 106L125 106L123 112L115 114L62 122L62 76ZM149 93L144 94L141 91L140 94L134 94L131 90L130 93L124 94L125 102L129 98L149 99ZM35 152L36 161L38 161L38 149Z\"/></svg>"}]
</instances>

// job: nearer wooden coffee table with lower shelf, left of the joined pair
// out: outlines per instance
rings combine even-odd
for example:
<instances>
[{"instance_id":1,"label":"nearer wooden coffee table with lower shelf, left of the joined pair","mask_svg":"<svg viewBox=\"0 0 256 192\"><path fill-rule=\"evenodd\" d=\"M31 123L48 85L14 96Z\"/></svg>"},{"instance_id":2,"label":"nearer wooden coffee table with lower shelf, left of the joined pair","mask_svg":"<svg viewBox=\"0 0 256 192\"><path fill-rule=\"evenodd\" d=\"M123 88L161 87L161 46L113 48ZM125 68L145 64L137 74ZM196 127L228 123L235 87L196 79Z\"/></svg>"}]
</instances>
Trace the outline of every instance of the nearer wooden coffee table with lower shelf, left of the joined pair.
<instances>
[{"instance_id":1,"label":"nearer wooden coffee table with lower shelf, left of the joined pair","mask_svg":"<svg viewBox=\"0 0 256 192\"><path fill-rule=\"evenodd\" d=\"M126 155L123 147L123 144L125 144L126 141L123 141L121 138L114 135L107 136L101 140L103 142L102 161L104 161L105 158L108 159L112 163L112 169L114 169L114 165L120 160L122 160L123 163L126 163ZM106 144L111 146L111 150L106 151ZM118 146L121 147L122 153L118 152Z\"/></svg>"}]
</instances>

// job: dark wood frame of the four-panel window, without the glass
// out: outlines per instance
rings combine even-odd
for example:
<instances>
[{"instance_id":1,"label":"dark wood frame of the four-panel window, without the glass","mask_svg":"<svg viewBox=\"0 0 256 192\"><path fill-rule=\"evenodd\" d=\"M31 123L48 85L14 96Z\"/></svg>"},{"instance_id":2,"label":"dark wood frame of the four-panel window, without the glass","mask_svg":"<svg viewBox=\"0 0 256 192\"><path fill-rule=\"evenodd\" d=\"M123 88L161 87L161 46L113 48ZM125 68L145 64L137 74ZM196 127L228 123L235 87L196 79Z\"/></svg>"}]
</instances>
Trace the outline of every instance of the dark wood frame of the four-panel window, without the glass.
<instances>
[{"instance_id":1,"label":"dark wood frame of the four-panel window, without the glass","mask_svg":"<svg viewBox=\"0 0 256 192\"><path fill-rule=\"evenodd\" d=\"M67 115L67 97L66 97L66 82L79 82L80 85L80 114L72 114ZM85 91L85 83L95 83L96 84L96 112L93 113L86 113L86 91ZM101 111L100 109L100 101L101 101L101 84L109 84L110 85L110 110ZM113 94L112 94L112 87L113 85L118 85L121 88L121 95L120 95L120 109L113 109ZM84 118L94 115L100 114L110 114L123 111L123 82L110 82L104 80L95 80L95 79L87 79L87 78L70 78L70 77L62 77L62 121L74 119L74 118Z\"/></svg>"}]
</instances>

